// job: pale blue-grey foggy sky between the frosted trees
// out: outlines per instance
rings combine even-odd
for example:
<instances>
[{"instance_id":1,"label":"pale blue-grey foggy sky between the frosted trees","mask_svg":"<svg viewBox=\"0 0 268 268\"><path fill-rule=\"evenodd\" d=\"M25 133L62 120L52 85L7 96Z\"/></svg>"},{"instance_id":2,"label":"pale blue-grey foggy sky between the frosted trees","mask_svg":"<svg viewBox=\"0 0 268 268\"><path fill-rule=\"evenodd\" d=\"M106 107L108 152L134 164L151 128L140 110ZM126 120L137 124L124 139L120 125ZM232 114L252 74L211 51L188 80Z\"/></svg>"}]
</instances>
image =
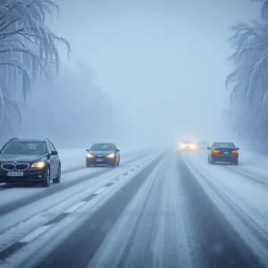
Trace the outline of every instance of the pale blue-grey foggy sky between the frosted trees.
<instances>
[{"instance_id":1,"label":"pale blue-grey foggy sky between the frosted trees","mask_svg":"<svg viewBox=\"0 0 268 268\"><path fill-rule=\"evenodd\" d=\"M191 131L193 121L209 129L220 120L228 98L229 28L258 12L249 0L57 3L54 28L71 42L71 63L93 66L98 85L133 124L160 137L182 122Z\"/></svg>"}]
</instances>

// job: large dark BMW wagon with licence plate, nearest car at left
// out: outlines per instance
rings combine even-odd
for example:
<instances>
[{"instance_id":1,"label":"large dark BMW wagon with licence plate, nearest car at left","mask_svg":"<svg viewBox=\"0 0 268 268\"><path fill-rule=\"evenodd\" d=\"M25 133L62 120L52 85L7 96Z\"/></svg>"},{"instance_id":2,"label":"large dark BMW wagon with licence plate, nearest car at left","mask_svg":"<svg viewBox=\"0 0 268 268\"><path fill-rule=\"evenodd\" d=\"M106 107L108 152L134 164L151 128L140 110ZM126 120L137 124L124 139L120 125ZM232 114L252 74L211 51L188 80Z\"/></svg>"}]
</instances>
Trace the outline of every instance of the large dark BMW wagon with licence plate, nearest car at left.
<instances>
[{"instance_id":1,"label":"large dark BMW wagon with licence plate, nearest car at left","mask_svg":"<svg viewBox=\"0 0 268 268\"><path fill-rule=\"evenodd\" d=\"M61 181L61 161L52 142L12 138L0 151L0 182L38 182L49 187Z\"/></svg>"}]
</instances>

